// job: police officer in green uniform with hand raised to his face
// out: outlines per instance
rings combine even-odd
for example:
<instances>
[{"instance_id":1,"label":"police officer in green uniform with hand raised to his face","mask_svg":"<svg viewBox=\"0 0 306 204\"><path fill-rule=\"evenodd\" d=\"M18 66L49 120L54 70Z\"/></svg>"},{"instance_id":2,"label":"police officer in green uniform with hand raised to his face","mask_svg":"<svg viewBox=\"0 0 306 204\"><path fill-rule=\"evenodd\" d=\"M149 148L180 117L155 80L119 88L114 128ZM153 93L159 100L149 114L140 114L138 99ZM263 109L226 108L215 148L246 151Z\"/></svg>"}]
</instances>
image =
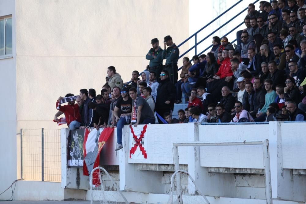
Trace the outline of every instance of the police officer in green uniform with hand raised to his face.
<instances>
[{"instance_id":1,"label":"police officer in green uniform with hand raised to his face","mask_svg":"<svg viewBox=\"0 0 306 204\"><path fill-rule=\"evenodd\" d=\"M166 49L166 45L169 46ZM177 74L177 61L180 56L180 50L173 43L170 35L164 37L164 50L162 50L162 58L166 59L166 64L164 69L169 72L169 78L172 83L177 83L178 74Z\"/></svg>"}]
</instances>

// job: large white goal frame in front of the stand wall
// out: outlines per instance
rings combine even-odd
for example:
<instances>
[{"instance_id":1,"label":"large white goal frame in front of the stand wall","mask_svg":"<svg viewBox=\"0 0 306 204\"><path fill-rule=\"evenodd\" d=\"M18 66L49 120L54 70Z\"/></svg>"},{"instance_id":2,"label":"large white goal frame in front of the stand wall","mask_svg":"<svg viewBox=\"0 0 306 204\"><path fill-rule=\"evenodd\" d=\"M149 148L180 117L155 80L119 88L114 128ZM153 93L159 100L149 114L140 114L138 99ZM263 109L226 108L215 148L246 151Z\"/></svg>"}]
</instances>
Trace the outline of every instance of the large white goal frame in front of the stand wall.
<instances>
[{"instance_id":1,"label":"large white goal frame in front of the stand wall","mask_svg":"<svg viewBox=\"0 0 306 204\"><path fill-rule=\"evenodd\" d=\"M173 143L173 156L174 156L174 169L175 172L180 170L180 162L178 155L178 147L200 147L200 146L243 146L243 145L261 145L263 147L263 166L265 171L265 193L267 204L272 204L272 187L271 187L271 169L270 169L270 153L269 153L269 140L265 139L263 141L250 141L250 142L219 142L219 143L204 143L204 142L175 142ZM189 174L188 174L189 175ZM191 178L191 176L189 176ZM172 179L171 179L172 180ZM193 179L192 179L193 180ZM194 183L194 181L192 181ZM176 176L177 183L177 201L183 203L182 201L182 191L181 191L181 178ZM199 192L200 193L200 192Z\"/></svg>"}]
</instances>

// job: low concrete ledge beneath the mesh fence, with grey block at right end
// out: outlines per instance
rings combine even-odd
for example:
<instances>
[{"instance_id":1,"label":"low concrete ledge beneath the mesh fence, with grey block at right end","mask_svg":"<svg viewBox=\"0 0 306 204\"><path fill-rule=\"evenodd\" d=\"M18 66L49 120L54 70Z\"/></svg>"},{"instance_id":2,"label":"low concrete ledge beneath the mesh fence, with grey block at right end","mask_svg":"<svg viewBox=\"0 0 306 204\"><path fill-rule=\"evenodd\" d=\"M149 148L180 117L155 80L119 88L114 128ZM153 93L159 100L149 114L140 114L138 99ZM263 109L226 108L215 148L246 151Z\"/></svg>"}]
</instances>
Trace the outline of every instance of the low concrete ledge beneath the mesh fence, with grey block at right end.
<instances>
[{"instance_id":1,"label":"low concrete ledge beneath the mesh fence, with grey block at right end","mask_svg":"<svg viewBox=\"0 0 306 204\"><path fill-rule=\"evenodd\" d=\"M17 181L14 200L85 200L86 191L64 189L61 183L43 181Z\"/></svg>"}]
</instances>

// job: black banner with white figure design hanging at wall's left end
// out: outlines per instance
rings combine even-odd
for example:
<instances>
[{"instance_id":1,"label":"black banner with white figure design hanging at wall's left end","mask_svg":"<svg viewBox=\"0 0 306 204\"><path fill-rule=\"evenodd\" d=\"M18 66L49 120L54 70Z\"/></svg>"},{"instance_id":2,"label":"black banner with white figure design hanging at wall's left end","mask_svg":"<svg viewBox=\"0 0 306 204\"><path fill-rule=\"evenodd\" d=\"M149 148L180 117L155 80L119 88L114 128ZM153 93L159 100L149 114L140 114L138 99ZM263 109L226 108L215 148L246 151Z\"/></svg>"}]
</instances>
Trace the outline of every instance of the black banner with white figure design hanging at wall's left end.
<instances>
[{"instance_id":1,"label":"black banner with white figure design hanging at wall's left end","mask_svg":"<svg viewBox=\"0 0 306 204\"><path fill-rule=\"evenodd\" d=\"M84 129L71 130L68 136L68 167L83 167Z\"/></svg>"}]
</instances>

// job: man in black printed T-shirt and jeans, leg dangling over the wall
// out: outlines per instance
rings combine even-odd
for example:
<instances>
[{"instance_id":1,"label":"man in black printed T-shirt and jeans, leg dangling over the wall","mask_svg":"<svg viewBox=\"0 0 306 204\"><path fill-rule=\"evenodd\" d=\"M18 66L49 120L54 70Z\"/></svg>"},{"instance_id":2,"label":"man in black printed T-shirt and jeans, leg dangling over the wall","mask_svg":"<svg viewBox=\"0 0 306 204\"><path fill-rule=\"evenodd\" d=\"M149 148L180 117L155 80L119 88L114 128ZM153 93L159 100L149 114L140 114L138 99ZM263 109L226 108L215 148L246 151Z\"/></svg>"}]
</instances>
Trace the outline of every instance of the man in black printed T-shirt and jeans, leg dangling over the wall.
<instances>
[{"instance_id":1,"label":"man in black printed T-shirt and jeans, leg dangling over the wall","mask_svg":"<svg viewBox=\"0 0 306 204\"><path fill-rule=\"evenodd\" d=\"M136 91L137 92L137 91ZM121 98L117 101L114 109L115 121L117 123L117 148L116 151L122 148L122 128L131 122L132 113L132 98L129 97L129 89L123 88L120 91ZM112 125L113 126L113 125Z\"/></svg>"}]
</instances>

